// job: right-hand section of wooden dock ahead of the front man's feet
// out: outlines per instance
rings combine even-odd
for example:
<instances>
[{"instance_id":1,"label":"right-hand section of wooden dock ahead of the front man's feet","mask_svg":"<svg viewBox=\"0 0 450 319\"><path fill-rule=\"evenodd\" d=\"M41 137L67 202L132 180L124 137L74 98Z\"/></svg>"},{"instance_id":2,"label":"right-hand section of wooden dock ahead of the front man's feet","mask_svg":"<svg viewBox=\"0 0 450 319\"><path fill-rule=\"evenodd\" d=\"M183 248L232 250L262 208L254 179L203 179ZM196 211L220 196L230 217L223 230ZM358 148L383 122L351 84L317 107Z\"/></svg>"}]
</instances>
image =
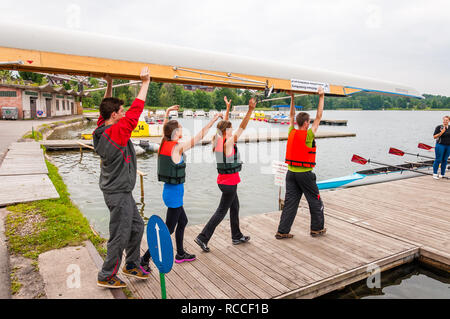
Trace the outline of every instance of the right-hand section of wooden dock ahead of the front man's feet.
<instances>
[{"instance_id":1,"label":"right-hand section of wooden dock ahead of the front man's feet","mask_svg":"<svg viewBox=\"0 0 450 319\"><path fill-rule=\"evenodd\" d=\"M450 271L450 182L429 176L324 192L327 215L401 238Z\"/></svg>"}]
</instances>

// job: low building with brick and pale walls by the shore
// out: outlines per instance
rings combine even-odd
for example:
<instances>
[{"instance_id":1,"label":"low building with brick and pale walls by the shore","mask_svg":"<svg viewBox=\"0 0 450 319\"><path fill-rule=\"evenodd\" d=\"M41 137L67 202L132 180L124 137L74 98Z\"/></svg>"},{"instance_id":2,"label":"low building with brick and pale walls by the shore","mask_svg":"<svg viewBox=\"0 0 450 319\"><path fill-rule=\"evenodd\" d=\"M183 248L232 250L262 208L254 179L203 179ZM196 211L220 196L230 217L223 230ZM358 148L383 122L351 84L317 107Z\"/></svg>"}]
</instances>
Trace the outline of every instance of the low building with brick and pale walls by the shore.
<instances>
[{"instance_id":1,"label":"low building with brick and pale walls by the shore","mask_svg":"<svg viewBox=\"0 0 450 319\"><path fill-rule=\"evenodd\" d=\"M82 114L78 93L64 88L53 88L50 84L41 86L0 84L0 117L2 107L16 107L19 119L36 119L54 116Z\"/></svg>"}]
</instances>

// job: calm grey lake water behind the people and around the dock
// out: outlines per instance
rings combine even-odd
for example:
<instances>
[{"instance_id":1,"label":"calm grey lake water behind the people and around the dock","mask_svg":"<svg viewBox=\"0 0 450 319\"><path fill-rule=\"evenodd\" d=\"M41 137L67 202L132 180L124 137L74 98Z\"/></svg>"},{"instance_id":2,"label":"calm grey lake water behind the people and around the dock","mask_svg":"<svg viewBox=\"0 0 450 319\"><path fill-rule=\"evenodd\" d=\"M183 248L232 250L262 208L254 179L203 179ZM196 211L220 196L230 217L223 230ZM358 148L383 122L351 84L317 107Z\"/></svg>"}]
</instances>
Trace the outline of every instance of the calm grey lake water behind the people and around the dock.
<instances>
[{"instance_id":1,"label":"calm grey lake water behind the people and around the dock","mask_svg":"<svg viewBox=\"0 0 450 319\"><path fill-rule=\"evenodd\" d=\"M450 111L325 111L324 119L348 120L348 125L320 126L319 130L353 132L356 133L356 137L317 140L317 167L314 171L318 180L367 169L368 167L350 161L353 154L388 164L403 162L403 158L388 154L389 147L430 155L426 151L419 150L417 144L422 142L434 145L432 136L434 128L441 124L442 117L449 113ZM315 116L315 112L310 112L310 114L311 117ZM209 120L207 118L203 120L180 118L179 121L184 127L184 135L189 135L188 133L198 132L202 125ZM237 128L240 120L232 122L233 128ZM82 125L58 131L52 138L75 139L81 132L91 133L94 129L95 124ZM250 121L247 130L256 129L287 131L288 125ZM214 129L211 129L210 135L214 132ZM238 186L240 215L248 216L278 210L279 189L274 185L270 166L272 160L282 161L284 159L286 141L239 143L238 145L245 163L241 172L242 183ZM434 156L433 153L431 155ZM79 151L51 152L50 156L59 167L59 172L68 186L72 200L94 228L107 238L109 213L98 187L100 158L92 152L85 152L81 158ZM205 223L217 208L221 196L216 183L217 171L211 146L196 146L187 153L187 158L184 208L190 224ZM404 159L415 160L411 156ZM145 217L158 214L165 218L166 207L162 201L163 184L157 181L156 157L154 154L144 154L138 157L137 162L138 169L148 173L144 178L144 204L138 203L138 206ZM133 194L136 202L139 202L139 180ZM406 277L411 274L411 271L407 273ZM382 289L382 294L380 294L380 290L367 292L364 287L360 287L358 297L344 292L333 298L359 298L366 295L370 295L371 298L378 296L390 298L417 296L442 298L444 296L444 298L450 298L449 283L443 277L430 277L427 276L427 273L418 273L408 278L402 277L403 279L400 281L392 278L387 281L388 286ZM399 288L396 288L396 285L399 285ZM420 287L423 289L419 289ZM414 293L410 295L411 289L416 291L415 295ZM432 294L430 290L436 294Z\"/></svg>"}]
</instances>

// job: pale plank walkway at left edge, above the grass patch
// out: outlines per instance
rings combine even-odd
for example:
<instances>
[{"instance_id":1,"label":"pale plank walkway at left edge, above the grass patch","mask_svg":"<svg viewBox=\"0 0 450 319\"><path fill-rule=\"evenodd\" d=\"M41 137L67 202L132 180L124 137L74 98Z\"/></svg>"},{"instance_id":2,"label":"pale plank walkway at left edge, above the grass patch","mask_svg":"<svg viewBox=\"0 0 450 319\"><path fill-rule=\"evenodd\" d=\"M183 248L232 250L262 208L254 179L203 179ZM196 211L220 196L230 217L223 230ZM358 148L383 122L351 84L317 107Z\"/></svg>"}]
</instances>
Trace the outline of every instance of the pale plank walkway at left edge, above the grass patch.
<instances>
[{"instance_id":1,"label":"pale plank walkway at left edge, above the grass patch","mask_svg":"<svg viewBox=\"0 0 450 319\"><path fill-rule=\"evenodd\" d=\"M0 207L59 198L39 143L12 143L0 166Z\"/></svg>"}]
</instances>

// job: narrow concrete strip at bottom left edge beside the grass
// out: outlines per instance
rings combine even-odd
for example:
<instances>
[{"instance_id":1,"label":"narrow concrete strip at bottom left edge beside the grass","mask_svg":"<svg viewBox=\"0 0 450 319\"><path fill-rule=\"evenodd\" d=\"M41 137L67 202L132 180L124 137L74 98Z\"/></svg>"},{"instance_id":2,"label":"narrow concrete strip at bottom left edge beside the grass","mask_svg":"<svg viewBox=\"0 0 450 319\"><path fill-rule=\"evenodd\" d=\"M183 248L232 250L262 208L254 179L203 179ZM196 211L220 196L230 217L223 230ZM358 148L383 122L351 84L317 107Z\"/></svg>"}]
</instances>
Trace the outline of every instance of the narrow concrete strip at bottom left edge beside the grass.
<instances>
[{"instance_id":1,"label":"narrow concrete strip at bottom left edge beside the grass","mask_svg":"<svg viewBox=\"0 0 450 319\"><path fill-rule=\"evenodd\" d=\"M9 253L5 237L6 209L0 209L0 299L11 298Z\"/></svg>"}]
</instances>

